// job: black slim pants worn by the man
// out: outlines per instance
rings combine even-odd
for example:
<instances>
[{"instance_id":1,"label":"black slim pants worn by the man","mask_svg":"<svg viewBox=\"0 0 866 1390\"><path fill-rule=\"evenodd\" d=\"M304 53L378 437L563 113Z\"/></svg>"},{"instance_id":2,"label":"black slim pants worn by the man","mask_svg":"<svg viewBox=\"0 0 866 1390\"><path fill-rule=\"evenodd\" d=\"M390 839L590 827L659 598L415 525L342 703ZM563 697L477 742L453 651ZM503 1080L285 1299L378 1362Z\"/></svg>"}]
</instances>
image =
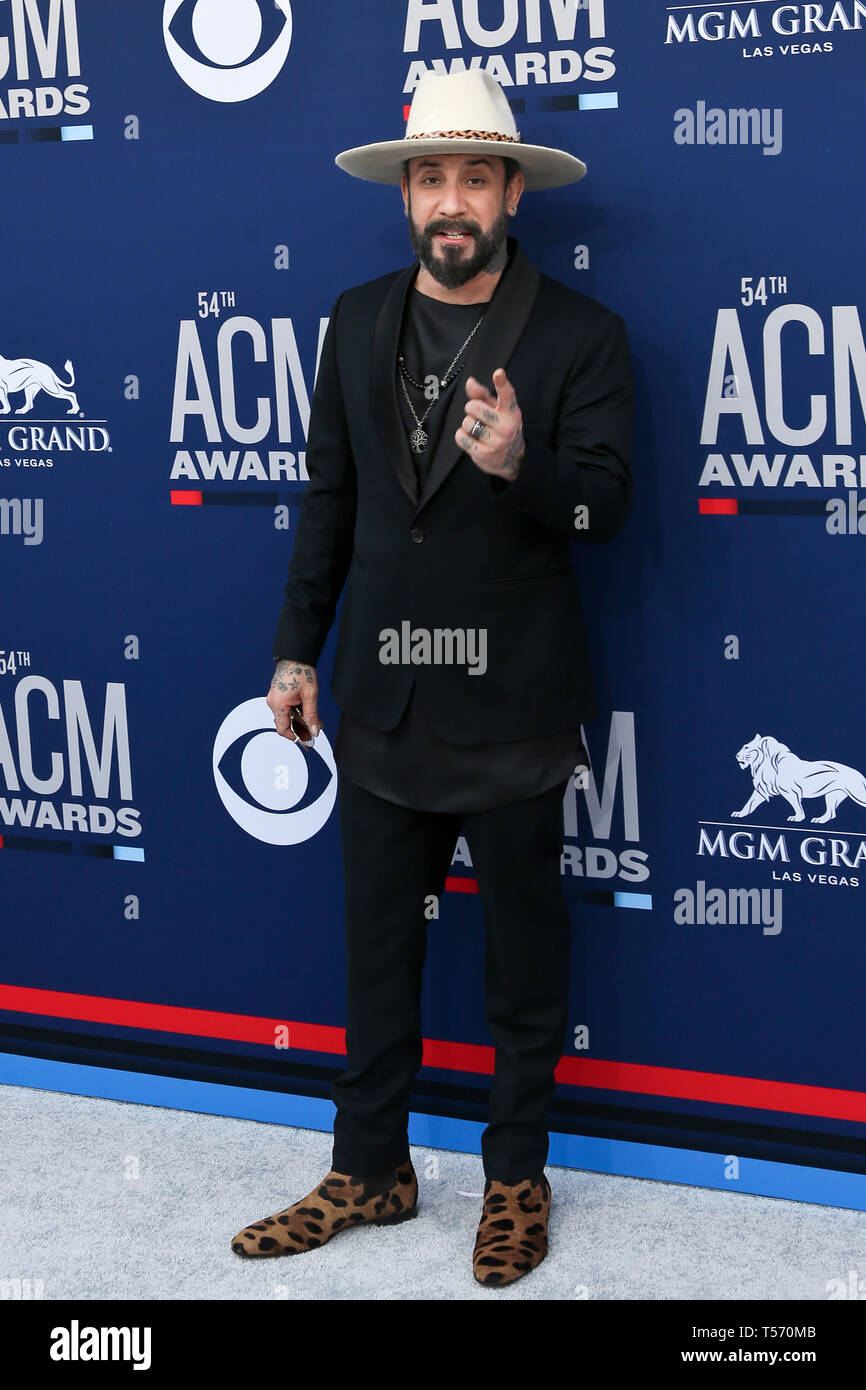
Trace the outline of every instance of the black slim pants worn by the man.
<instances>
[{"instance_id":1,"label":"black slim pants worn by the man","mask_svg":"<svg viewBox=\"0 0 866 1390\"><path fill-rule=\"evenodd\" d=\"M495 1042L487 1177L538 1177L569 1008L570 923L562 891L567 783L464 815L410 810L341 777L346 897L346 1070L334 1081L332 1166L374 1176L409 1156L421 1065L425 899L445 887L460 830L485 922L485 1004Z\"/></svg>"}]
</instances>

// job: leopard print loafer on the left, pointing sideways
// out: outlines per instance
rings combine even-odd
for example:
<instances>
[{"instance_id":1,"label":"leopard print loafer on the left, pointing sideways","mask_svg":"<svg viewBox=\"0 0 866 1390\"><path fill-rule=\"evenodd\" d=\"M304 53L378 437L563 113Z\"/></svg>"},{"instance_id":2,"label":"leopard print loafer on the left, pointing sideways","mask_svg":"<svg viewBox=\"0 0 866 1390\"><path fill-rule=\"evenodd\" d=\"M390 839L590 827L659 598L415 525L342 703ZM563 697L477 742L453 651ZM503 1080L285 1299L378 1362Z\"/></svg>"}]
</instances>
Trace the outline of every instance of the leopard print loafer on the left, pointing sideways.
<instances>
[{"instance_id":1,"label":"leopard print loafer on the left, pointing sideways","mask_svg":"<svg viewBox=\"0 0 866 1390\"><path fill-rule=\"evenodd\" d=\"M388 1179L336 1173L274 1216L245 1226L232 1237L236 1255L300 1255L324 1245L352 1226L392 1226L418 1213L418 1179L406 1159Z\"/></svg>"}]
</instances>

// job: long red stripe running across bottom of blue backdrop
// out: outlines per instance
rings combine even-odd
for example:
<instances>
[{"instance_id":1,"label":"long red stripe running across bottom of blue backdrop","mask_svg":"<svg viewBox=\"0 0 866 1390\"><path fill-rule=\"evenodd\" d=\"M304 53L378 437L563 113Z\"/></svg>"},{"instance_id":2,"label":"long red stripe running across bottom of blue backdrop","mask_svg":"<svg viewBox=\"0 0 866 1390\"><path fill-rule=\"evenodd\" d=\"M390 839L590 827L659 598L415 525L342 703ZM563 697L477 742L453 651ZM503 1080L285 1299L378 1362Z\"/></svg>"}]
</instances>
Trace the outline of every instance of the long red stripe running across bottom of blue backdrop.
<instances>
[{"instance_id":1,"label":"long red stripe running across bottom of blue backdrop","mask_svg":"<svg viewBox=\"0 0 866 1390\"><path fill-rule=\"evenodd\" d=\"M1 984L0 1009L158 1033L257 1042L261 1047L272 1047L277 1030L288 1029L291 1049L342 1055L346 1052L345 1029L322 1023L260 1019L246 1013L215 1013L172 1004L143 1004L138 999L107 999L99 994L64 994L57 990ZM493 1048L424 1038L424 1066L492 1076ZM791 1115L822 1115L826 1119L866 1122L866 1093L801 1086L795 1081L767 1081L752 1076L687 1072L670 1066L644 1066L638 1062L606 1062L601 1058L578 1056L560 1059L556 1080L566 1086L595 1087L605 1091L669 1095L678 1099L709 1101L713 1105L742 1105Z\"/></svg>"}]
</instances>

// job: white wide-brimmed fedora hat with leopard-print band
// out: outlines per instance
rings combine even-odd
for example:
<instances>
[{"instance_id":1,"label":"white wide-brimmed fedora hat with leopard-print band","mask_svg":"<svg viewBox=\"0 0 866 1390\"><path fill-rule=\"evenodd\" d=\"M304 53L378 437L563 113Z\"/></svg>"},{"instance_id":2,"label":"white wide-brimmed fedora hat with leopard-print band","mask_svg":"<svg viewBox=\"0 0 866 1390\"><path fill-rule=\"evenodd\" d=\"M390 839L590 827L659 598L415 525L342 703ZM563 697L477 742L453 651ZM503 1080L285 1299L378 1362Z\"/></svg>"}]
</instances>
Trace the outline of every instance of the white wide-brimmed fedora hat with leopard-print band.
<instances>
[{"instance_id":1,"label":"white wide-brimmed fedora hat with leopard-print band","mask_svg":"<svg viewBox=\"0 0 866 1390\"><path fill-rule=\"evenodd\" d=\"M335 164L354 178L399 183L403 160L418 154L499 154L517 161L527 189L577 183L582 160L546 145L524 145L499 82L468 72L425 72L420 79L402 140L379 140L343 150Z\"/></svg>"}]
</instances>

